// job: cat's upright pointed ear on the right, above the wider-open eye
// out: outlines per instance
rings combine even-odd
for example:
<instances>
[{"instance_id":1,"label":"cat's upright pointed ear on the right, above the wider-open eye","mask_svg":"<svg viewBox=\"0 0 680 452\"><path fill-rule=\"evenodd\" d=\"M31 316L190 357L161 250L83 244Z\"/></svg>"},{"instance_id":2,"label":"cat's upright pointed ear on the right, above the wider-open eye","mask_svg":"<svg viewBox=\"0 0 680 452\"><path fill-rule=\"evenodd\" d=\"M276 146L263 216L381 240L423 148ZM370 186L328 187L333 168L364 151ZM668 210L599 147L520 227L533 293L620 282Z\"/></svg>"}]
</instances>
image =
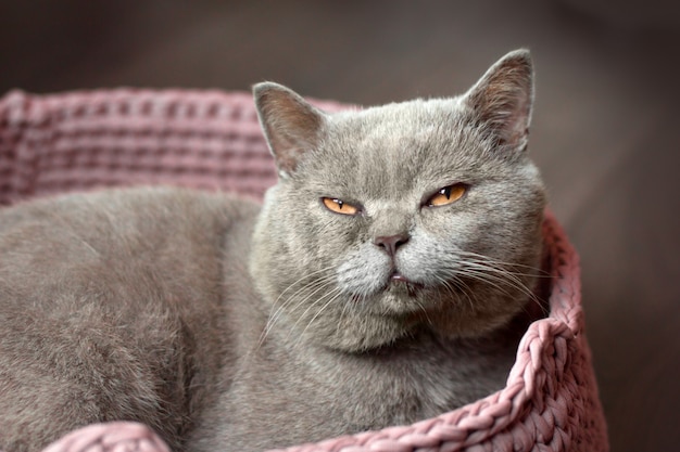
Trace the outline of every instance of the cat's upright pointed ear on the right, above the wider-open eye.
<instances>
[{"instance_id":1,"label":"cat's upright pointed ear on the right, above the wider-open eye","mask_svg":"<svg viewBox=\"0 0 680 452\"><path fill-rule=\"evenodd\" d=\"M500 145L522 151L533 104L533 65L528 50L515 50L487 70L465 94L476 119Z\"/></svg>"}]
</instances>

